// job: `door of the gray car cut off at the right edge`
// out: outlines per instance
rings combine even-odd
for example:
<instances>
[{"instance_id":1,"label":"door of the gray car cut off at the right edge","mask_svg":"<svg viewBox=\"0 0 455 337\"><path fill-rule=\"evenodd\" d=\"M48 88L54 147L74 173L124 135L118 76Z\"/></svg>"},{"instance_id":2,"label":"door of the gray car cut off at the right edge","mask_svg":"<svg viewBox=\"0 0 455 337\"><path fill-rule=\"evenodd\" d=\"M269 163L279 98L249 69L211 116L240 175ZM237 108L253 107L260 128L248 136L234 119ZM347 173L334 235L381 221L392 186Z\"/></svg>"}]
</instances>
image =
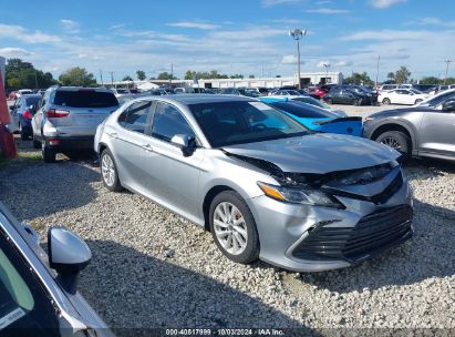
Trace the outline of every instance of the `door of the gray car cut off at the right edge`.
<instances>
[{"instance_id":1,"label":"door of the gray car cut off at the right edge","mask_svg":"<svg viewBox=\"0 0 455 337\"><path fill-rule=\"evenodd\" d=\"M420 135L420 154L455 155L455 110L424 112Z\"/></svg>"}]
</instances>

